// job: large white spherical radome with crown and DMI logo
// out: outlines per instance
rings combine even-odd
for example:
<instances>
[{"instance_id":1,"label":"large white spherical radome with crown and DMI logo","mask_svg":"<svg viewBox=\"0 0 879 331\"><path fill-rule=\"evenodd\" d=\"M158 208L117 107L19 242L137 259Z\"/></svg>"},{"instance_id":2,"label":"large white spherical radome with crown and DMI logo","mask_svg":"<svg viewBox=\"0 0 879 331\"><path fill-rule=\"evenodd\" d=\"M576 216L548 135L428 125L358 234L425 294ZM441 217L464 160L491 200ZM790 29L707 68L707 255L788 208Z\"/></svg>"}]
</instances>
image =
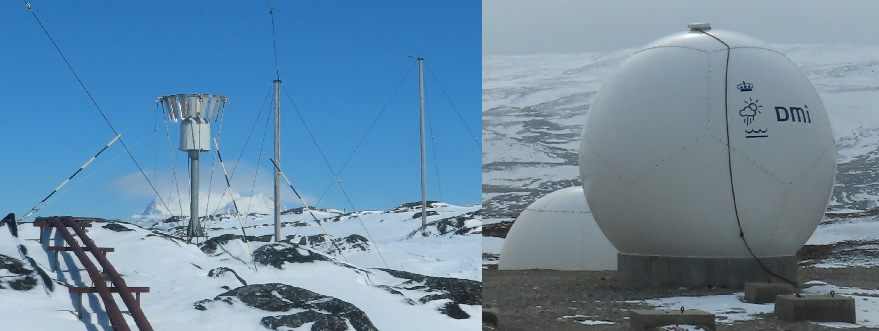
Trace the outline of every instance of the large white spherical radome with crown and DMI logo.
<instances>
[{"instance_id":1,"label":"large white spherical radome with crown and DMI logo","mask_svg":"<svg viewBox=\"0 0 879 331\"><path fill-rule=\"evenodd\" d=\"M737 32L689 31L643 47L599 90L580 175L621 253L749 257L738 219L754 255L782 256L824 215L836 159L793 61Z\"/></svg>"}]
</instances>

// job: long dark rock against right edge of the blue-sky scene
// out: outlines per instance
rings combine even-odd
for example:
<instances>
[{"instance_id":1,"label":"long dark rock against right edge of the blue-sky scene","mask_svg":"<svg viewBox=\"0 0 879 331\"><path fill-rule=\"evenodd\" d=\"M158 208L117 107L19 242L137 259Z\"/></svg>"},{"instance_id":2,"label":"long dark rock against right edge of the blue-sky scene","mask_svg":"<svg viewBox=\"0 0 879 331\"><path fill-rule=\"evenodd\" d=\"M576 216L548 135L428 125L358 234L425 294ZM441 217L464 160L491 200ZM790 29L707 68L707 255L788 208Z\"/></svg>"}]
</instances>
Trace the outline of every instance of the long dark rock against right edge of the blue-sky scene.
<instances>
[{"instance_id":1,"label":"long dark rock against right edge of the blue-sky scene","mask_svg":"<svg viewBox=\"0 0 879 331\"><path fill-rule=\"evenodd\" d=\"M483 304L483 284L475 280L452 277L432 277L407 271L384 268L376 269L385 271L393 277L409 279L409 281L397 285L396 287L398 288L442 292L441 294L429 294L422 297L419 299L421 303L438 299L451 299L455 304L461 305L479 306Z\"/></svg>"}]
</instances>

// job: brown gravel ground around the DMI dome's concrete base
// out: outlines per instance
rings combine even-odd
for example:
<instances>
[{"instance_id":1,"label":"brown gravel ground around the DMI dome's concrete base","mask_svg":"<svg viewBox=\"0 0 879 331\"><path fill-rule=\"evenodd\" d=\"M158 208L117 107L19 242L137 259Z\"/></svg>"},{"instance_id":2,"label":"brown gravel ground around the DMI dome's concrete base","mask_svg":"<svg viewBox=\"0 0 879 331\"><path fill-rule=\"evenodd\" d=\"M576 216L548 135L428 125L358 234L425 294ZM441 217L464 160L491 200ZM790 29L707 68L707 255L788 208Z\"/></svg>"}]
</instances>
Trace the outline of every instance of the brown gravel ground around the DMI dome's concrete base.
<instances>
[{"instance_id":1,"label":"brown gravel ground around the DMI dome's concrete base","mask_svg":"<svg viewBox=\"0 0 879 331\"><path fill-rule=\"evenodd\" d=\"M629 309L650 309L653 306L625 303L622 302L623 300L735 292L726 289L683 288L631 291L618 288L615 284L615 274L616 271L483 270L483 307L498 310L500 330L628 330ZM879 270L876 268L801 267L798 278L801 282L817 279L840 286L879 289ZM575 314L591 316L589 320L610 320L615 324L584 325L575 322L575 319L562 318ZM755 320L737 321L731 324L718 321L717 329L839 330L810 322L778 320L772 313L757 316ZM861 327L853 330L879 330L879 328Z\"/></svg>"}]
</instances>

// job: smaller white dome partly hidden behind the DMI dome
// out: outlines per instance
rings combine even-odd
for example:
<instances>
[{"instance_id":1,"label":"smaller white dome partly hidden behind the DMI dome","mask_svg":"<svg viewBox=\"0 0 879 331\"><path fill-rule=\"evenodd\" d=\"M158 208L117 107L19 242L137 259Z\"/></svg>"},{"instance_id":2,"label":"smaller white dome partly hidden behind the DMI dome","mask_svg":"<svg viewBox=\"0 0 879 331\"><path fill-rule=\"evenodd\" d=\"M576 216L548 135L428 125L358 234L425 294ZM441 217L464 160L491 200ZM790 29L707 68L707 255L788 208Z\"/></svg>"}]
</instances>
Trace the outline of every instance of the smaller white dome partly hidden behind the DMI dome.
<instances>
[{"instance_id":1,"label":"smaller white dome partly hidden behind the DMI dome","mask_svg":"<svg viewBox=\"0 0 879 331\"><path fill-rule=\"evenodd\" d=\"M616 253L576 186L549 193L519 214L498 269L616 270Z\"/></svg>"}]
</instances>

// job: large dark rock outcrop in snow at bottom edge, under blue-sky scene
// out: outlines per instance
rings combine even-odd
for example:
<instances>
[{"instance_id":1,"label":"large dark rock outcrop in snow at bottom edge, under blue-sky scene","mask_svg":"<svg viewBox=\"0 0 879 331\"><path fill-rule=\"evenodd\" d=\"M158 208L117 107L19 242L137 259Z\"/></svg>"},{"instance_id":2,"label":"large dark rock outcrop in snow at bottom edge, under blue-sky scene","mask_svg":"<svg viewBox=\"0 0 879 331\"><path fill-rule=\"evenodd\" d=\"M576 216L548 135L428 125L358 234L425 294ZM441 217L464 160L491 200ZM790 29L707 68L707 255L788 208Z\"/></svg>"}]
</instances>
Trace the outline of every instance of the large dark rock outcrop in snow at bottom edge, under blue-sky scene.
<instances>
[{"instance_id":1,"label":"large dark rock outcrop in snow at bottom edge, under blue-sky scene","mask_svg":"<svg viewBox=\"0 0 879 331\"><path fill-rule=\"evenodd\" d=\"M271 283L251 284L226 291L214 298L229 304L241 300L245 305L268 312L287 312L291 309L305 309L305 312L291 315L267 316L262 324L272 329L280 327L301 327L314 322L312 330L347 330L347 324L358 331L377 331L366 313L357 306L343 300L325 296L299 287ZM211 300L201 300L194 304L195 309L207 310L205 304Z\"/></svg>"}]
</instances>

